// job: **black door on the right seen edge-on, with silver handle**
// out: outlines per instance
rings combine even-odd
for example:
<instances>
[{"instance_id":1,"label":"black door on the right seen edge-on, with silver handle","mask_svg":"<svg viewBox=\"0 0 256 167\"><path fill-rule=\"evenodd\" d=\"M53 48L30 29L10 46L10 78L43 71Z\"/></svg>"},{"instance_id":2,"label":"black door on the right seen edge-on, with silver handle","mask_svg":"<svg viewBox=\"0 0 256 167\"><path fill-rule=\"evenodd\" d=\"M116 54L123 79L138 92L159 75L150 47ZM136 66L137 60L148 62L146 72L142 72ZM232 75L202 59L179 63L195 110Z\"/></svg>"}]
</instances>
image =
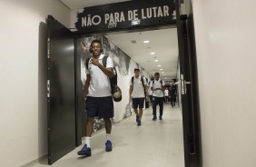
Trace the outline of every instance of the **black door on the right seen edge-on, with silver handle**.
<instances>
[{"instance_id":1,"label":"black door on the right seen edge-on, with silver handle","mask_svg":"<svg viewBox=\"0 0 256 167\"><path fill-rule=\"evenodd\" d=\"M192 81L192 57L187 15L178 18L178 41L180 54L180 87L182 93L182 122L185 167L199 165L199 133L194 110Z\"/></svg>"}]
</instances>

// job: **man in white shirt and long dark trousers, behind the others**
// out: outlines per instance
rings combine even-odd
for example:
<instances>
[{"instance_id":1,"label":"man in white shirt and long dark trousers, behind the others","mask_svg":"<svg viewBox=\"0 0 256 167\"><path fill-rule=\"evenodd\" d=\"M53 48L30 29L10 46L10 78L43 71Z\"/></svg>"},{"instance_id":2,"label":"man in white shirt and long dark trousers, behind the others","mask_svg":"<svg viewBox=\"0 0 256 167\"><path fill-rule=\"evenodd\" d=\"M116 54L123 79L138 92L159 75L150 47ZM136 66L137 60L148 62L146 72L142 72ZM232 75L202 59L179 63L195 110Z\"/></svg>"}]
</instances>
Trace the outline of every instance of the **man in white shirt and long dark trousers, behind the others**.
<instances>
[{"instance_id":1,"label":"man in white shirt and long dark trousers, behind the others","mask_svg":"<svg viewBox=\"0 0 256 167\"><path fill-rule=\"evenodd\" d=\"M153 91L153 121L157 119L156 117L156 106L159 105L159 119L162 120L163 111L163 92L165 83L160 79L160 74L154 74L154 80L151 83L151 90Z\"/></svg>"}]
</instances>

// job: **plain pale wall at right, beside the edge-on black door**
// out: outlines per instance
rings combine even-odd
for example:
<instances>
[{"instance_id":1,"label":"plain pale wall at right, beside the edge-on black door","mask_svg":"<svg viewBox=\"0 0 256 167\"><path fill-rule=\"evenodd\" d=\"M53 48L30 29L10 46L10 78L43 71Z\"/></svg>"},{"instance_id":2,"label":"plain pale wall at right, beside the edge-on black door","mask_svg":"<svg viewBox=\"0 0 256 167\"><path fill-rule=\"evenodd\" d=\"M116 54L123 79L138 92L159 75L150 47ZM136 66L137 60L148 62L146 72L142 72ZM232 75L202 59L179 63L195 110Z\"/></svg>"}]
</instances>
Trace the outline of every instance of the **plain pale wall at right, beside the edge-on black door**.
<instances>
[{"instance_id":1,"label":"plain pale wall at right, beside the edge-on black door","mask_svg":"<svg viewBox=\"0 0 256 167\"><path fill-rule=\"evenodd\" d=\"M192 0L203 167L256 164L256 1Z\"/></svg>"}]
</instances>

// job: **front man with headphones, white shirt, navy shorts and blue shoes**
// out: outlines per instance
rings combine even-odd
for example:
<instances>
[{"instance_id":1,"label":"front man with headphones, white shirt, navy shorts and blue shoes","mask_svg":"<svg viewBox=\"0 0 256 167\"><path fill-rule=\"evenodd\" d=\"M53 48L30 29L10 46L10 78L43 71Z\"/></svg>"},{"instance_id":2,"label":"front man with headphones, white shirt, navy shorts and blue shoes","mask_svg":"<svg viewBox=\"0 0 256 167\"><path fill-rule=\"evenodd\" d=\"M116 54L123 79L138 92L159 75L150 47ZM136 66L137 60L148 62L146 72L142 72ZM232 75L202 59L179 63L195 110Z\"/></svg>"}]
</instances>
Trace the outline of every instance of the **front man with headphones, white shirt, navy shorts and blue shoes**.
<instances>
[{"instance_id":1,"label":"front man with headphones, white shirt, navy shorts and blue shoes","mask_svg":"<svg viewBox=\"0 0 256 167\"><path fill-rule=\"evenodd\" d=\"M103 118L106 131L105 151L112 151L110 140L113 118L113 97L109 77L113 77L113 61L110 57L103 66L103 47L96 39L90 46L93 56L90 58L88 68L85 67L86 81L84 84L84 102L87 113L85 130L85 145L78 155L91 156L91 136L93 133L94 117Z\"/></svg>"}]
</instances>

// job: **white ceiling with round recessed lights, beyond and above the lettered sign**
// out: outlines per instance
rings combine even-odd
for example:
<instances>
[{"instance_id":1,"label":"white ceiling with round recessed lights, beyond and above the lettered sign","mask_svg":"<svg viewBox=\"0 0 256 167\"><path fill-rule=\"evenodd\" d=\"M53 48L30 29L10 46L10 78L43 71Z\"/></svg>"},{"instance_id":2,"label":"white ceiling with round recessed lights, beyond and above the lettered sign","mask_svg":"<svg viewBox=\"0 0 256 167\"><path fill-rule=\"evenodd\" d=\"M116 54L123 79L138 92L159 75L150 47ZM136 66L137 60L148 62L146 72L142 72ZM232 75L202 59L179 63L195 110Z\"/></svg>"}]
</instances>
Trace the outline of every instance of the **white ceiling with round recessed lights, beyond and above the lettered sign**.
<instances>
[{"instance_id":1,"label":"white ceiling with round recessed lights, beyond and above the lettered sign","mask_svg":"<svg viewBox=\"0 0 256 167\"><path fill-rule=\"evenodd\" d=\"M71 10L87 6L112 4L127 0L60 0ZM117 45L125 54L128 54L136 63L150 74L161 73L162 79L174 79L177 74L178 41L177 29L165 28L133 32L114 33L105 35L113 44ZM150 41L144 44L143 41ZM132 41L136 43L133 44ZM151 54L155 53L155 54ZM155 62L158 60L158 62ZM159 66L161 65L161 66Z\"/></svg>"}]
</instances>

